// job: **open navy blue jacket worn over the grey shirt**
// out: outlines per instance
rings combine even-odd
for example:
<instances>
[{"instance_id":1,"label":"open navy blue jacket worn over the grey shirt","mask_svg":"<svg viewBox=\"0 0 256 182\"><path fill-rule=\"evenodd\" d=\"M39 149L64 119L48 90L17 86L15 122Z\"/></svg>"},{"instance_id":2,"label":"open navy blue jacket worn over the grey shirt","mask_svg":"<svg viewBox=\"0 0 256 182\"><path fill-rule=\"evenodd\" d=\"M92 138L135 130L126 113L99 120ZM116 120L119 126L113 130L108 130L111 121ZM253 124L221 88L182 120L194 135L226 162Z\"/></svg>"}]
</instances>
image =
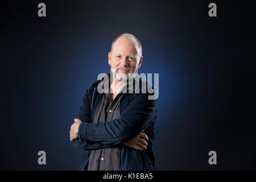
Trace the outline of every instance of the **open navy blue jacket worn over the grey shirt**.
<instances>
[{"instance_id":1,"label":"open navy blue jacket worn over the grey shirt","mask_svg":"<svg viewBox=\"0 0 256 182\"><path fill-rule=\"evenodd\" d=\"M119 111L120 117L109 122L92 123L102 94L98 93L97 86L100 80L88 89L80 107L79 139L74 140L75 146L82 148L83 154L79 170L86 170L89 162L90 149L120 146L119 169L125 171L156 170L153 140L155 121L158 111L158 99L148 100L147 93L123 94ZM146 82L146 84L148 84ZM134 89L134 88L133 88ZM134 89L135 90L135 89ZM144 130L148 137L147 150L138 151L122 143L134 138Z\"/></svg>"}]
</instances>

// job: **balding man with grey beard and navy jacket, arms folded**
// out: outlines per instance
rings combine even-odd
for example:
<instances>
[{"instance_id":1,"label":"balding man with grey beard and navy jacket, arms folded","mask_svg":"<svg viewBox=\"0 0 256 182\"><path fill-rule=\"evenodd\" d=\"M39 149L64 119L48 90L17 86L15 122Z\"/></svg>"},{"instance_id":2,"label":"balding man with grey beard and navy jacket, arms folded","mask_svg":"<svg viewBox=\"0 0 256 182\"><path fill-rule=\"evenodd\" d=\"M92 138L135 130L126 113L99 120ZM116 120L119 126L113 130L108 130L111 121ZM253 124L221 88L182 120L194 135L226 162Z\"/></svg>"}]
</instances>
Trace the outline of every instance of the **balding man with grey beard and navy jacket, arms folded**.
<instances>
[{"instance_id":1,"label":"balding man with grey beard and navy jacket, arms folded","mask_svg":"<svg viewBox=\"0 0 256 182\"><path fill-rule=\"evenodd\" d=\"M80 170L156 169L152 144L158 98L142 92L136 77L142 60L134 35L115 38L108 54L112 72L86 90L79 119L71 126L70 140L84 150Z\"/></svg>"}]
</instances>

